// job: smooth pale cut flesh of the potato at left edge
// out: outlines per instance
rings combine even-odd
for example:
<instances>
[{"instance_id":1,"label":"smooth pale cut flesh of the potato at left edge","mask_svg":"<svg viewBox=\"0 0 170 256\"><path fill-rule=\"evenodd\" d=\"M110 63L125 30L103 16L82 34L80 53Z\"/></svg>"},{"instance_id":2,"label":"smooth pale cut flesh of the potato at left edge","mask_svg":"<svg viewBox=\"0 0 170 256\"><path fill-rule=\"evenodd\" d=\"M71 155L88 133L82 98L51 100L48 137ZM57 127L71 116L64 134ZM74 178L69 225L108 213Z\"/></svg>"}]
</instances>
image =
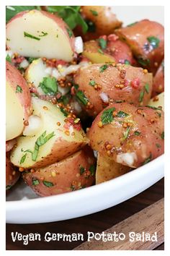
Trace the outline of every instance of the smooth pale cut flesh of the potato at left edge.
<instances>
[{"instance_id":1,"label":"smooth pale cut flesh of the potato at left edge","mask_svg":"<svg viewBox=\"0 0 170 256\"><path fill-rule=\"evenodd\" d=\"M6 82L6 140L22 134L24 129L24 109L9 82Z\"/></svg>"}]
</instances>

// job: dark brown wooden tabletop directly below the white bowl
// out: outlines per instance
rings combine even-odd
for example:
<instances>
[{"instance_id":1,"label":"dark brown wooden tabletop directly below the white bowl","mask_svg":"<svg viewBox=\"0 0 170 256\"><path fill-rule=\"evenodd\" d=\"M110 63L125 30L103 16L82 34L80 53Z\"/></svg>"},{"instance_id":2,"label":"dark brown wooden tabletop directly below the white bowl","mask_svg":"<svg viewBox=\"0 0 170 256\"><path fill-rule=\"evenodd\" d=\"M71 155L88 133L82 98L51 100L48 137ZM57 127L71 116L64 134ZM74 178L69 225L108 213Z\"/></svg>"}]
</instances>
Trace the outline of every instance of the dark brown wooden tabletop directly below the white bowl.
<instances>
[{"instance_id":1,"label":"dark brown wooden tabletop directly below the white bowl","mask_svg":"<svg viewBox=\"0 0 170 256\"><path fill-rule=\"evenodd\" d=\"M76 242L29 242L28 245L23 245L23 242L12 242L11 232L18 232L22 234L40 233L41 237L46 232L50 233L83 233L86 238L87 231L102 232L105 229L110 228L116 223L132 216L134 213L146 208L148 205L153 204L164 197L164 179L154 184L152 187L146 189L146 191L139 195L122 202L120 205L116 205L107 210L102 210L99 213L94 213L89 216L81 218L73 218L68 221L58 221L53 223L42 224L6 224L6 249L7 250L62 250L73 249L81 244L81 241ZM156 249L164 249L164 244L161 244Z\"/></svg>"}]
</instances>

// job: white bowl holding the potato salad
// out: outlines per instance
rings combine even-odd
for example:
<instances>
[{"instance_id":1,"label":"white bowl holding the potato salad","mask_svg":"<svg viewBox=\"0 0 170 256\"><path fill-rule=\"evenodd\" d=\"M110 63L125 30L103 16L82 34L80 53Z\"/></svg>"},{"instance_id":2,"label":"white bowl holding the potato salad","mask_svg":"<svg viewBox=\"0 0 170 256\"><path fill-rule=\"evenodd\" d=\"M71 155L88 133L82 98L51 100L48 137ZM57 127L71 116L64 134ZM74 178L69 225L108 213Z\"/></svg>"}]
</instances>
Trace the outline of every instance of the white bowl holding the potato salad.
<instances>
[{"instance_id":1,"label":"white bowl holding the potato salad","mask_svg":"<svg viewBox=\"0 0 170 256\"><path fill-rule=\"evenodd\" d=\"M113 7L125 25L150 19L164 24L164 7ZM6 197L7 223L45 223L96 213L138 195L164 176L164 155L109 182L75 192L37 197L17 184Z\"/></svg>"}]
</instances>

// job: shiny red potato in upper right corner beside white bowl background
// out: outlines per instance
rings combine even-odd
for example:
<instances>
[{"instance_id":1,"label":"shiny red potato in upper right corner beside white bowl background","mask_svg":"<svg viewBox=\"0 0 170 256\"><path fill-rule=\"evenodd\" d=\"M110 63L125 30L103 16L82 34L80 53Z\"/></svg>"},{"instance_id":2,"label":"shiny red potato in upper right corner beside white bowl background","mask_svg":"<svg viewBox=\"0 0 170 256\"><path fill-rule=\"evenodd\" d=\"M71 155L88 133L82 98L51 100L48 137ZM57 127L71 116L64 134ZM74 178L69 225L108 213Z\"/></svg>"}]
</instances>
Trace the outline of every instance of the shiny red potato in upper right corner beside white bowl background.
<instances>
[{"instance_id":1,"label":"shiny red potato in upper right corner beside white bowl background","mask_svg":"<svg viewBox=\"0 0 170 256\"><path fill-rule=\"evenodd\" d=\"M141 20L130 27L115 30L115 33L128 43L137 59L139 57L149 59L150 64L145 64L143 67L155 74L164 59L164 27L158 22ZM158 47L153 48L148 42L147 38L151 36L160 40Z\"/></svg>"}]
</instances>

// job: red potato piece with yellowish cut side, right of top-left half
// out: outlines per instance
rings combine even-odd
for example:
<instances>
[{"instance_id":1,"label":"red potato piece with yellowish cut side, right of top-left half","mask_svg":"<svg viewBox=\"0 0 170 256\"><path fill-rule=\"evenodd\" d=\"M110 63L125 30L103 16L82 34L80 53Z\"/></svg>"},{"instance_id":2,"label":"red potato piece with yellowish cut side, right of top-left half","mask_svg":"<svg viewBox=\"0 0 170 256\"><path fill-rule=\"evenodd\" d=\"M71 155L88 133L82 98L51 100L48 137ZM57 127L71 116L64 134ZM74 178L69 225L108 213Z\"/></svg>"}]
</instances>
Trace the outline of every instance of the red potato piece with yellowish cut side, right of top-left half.
<instances>
[{"instance_id":1,"label":"red potato piece with yellowish cut side, right of top-left half","mask_svg":"<svg viewBox=\"0 0 170 256\"><path fill-rule=\"evenodd\" d=\"M105 38L105 39L104 39ZM91 40L84 43L83 55L92 63L115 62L121 64L134 64L130 47L118 39L117 35L103 36L107 42L106 48L101 48L99 40Z\"/></svg>"}]
</instances>

